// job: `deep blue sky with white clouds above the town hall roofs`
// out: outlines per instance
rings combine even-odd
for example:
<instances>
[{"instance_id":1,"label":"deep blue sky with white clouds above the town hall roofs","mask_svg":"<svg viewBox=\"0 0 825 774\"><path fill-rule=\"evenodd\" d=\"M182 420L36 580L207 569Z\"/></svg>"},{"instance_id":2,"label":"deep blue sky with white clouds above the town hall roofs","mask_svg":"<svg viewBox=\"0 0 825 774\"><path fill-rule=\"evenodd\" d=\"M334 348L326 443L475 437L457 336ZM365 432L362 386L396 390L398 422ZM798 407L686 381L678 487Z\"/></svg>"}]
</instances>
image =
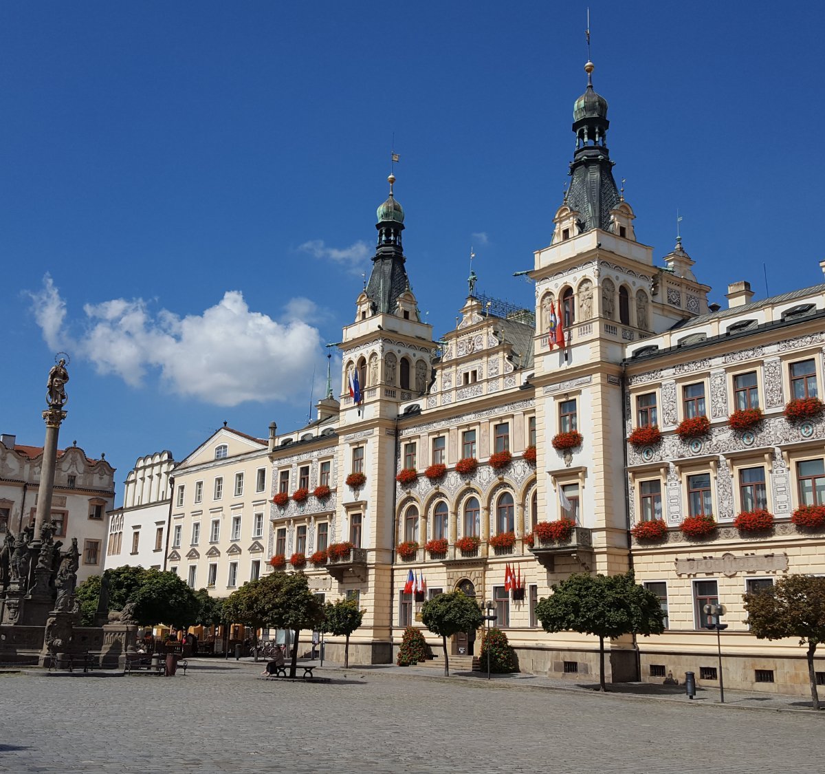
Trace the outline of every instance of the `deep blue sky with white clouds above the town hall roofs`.
<instances>
[{"instance_id":1,"label":"deep blue sky with white clouds above the town hall roofs","mask_svg":"<svg viewBox=\"0 0 825 774\"><path fill-rule=\"evenodd\" d=\"M0 6L0 431L181 459L226 420L308 416L355 314L389 152L420 309L455 325L549 243L573 154L585 6L37 2ZM658 262L676 209L711 300L823 281L818 4L591 3L615 177ZM336 375L335 385L339 384Z\"/></svg>"}]
</instances>

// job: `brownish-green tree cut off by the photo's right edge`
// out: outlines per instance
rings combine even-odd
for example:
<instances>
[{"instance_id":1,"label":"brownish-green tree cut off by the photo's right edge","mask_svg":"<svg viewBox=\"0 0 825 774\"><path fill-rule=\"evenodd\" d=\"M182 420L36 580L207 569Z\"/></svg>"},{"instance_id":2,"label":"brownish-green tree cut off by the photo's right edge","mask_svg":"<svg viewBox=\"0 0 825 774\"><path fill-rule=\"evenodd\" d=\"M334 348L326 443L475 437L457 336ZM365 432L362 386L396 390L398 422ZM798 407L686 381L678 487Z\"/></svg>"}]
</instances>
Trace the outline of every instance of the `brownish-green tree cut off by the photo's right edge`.
<instances>
[{"instance_id":1,"label":"brownish-green tree cut off by the photo's right edge","mask_svg":"<svg viewBox=\"0 0 825 774\"><path fill-rule=\"evenodd\" d=\"M747 624L759 639L799 637L808 644L808 678L813 709L819 709L813 654L825 642L825 578L788 575L771 588L745 594Z\"/></svg>"}]
</instances>

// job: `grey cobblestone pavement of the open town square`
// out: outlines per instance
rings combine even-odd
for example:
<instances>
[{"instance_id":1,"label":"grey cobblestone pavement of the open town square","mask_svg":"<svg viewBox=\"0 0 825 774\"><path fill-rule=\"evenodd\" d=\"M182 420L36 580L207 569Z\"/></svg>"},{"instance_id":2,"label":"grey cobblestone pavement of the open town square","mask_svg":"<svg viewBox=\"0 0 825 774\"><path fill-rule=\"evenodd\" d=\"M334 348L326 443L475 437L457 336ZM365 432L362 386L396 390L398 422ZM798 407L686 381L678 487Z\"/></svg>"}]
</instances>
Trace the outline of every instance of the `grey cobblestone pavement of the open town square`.
<instances>
[{"instance_id":1,"label":"grey cobblestone pavement of the open town square","mask_svg":"<svg viewBox=\"0 0 825 774\"><path fill-rule=\"evenodd\" d=\"M190 663L174 678L0 675L0 772L825 772L825 712L397 668L265 682L261 664Z\"/></svg>"}]
</instances>

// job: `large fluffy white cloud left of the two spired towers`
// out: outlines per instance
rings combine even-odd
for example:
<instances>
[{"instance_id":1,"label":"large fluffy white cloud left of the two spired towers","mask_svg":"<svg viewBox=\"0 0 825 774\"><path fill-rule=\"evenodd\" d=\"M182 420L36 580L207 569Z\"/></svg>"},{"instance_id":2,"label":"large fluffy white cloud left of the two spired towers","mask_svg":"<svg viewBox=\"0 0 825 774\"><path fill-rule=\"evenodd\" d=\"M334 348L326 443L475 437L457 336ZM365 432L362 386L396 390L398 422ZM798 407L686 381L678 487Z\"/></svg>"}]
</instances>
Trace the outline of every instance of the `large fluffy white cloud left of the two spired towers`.
<instances>
[{"instance_id":1,"label":"large fluffy white cloud left of the two spired towers","mask_svg":"<svg viewBox=\"0 0 825 774\"><path fill-rule=\"evenodd\" d=\"M50 277L31 297L35 307L40 304L35 319L50 347L51 340L71 341L61 330L66 305ZM86 304L83 310L85 330L71 349L99 373L138 386L155 371L170 392L219 406L303 397L320 347L318 329L300 317L316 312L305 299L290 302L280 323L251 311L238 290L183 318L167 309L153 313L143 299Z\"/></svg>"}]
</instances>

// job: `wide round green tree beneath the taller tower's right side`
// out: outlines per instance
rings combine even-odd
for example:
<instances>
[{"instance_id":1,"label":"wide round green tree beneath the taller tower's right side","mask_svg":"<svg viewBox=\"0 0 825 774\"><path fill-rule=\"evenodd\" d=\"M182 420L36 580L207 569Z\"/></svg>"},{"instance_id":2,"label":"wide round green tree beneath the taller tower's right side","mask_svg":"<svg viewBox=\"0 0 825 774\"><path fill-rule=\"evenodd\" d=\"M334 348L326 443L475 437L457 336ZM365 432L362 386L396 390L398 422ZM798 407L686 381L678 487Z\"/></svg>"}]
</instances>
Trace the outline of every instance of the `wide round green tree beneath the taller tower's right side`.
<instances>
[{"instance_id":1,"label":"wide round green tree beneath the taller tower's right side","mask_svg":"<svg viewBox=\"0 0 825 774\"><path fill-rule=\"evenodd\" d=\"M577 631L599 638L599 687L605 686L605 639L660 635L664 613L658 597L635 582L633 570L619 575L573 573L535 606L545 631Z\"/></svg>"}]
</instances>

